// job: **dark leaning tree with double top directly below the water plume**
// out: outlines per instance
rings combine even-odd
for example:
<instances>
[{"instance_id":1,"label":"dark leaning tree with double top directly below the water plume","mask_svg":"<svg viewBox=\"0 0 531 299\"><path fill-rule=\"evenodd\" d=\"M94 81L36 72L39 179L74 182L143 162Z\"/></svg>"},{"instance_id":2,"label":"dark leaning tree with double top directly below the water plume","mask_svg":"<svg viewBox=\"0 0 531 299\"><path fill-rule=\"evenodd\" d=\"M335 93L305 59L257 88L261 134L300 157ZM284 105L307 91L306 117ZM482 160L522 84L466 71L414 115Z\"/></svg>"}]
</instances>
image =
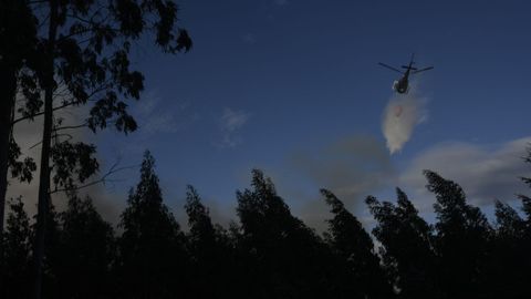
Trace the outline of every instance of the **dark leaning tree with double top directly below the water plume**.
<instances>
[{"instance_id":1,"label":"dark leaning tree with double top directly below the water plume","mask_svg":"<svg viewBox=\"0 0 531 299\"><path fill-rule=\"evenodd\" d=\"M365 203L377 221L373 235L382 244L385 267L403 298L438 298L437 259L433 228L407 195L396 188L396 205L368 196Z\"/></svg>"}]
</instances>

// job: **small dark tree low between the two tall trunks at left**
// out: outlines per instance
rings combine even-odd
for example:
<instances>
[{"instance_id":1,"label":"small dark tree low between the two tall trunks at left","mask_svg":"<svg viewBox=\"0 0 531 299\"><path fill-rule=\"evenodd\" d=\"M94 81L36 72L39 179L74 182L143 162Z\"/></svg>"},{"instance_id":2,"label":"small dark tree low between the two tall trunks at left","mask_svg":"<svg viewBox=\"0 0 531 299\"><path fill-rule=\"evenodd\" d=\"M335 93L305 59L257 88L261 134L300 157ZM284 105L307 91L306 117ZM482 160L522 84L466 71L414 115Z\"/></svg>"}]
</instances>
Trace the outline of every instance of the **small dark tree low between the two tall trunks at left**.
<instances>
[{"instance_id":1,"label":"small dark tree low between the two tall trunks at left","mask_svg":"<svg viewBox=\"0 0 531 299\"><path fill-rule=\"evenodd\" d=\"M11 199L9 210L3 235L6 250L0 257L7 269L1 272L4 287L0 289L0 296L2 298L28 298L30 295L27 288L30 278L30 219L20 197Z\"/></svg>"}]
</instances>

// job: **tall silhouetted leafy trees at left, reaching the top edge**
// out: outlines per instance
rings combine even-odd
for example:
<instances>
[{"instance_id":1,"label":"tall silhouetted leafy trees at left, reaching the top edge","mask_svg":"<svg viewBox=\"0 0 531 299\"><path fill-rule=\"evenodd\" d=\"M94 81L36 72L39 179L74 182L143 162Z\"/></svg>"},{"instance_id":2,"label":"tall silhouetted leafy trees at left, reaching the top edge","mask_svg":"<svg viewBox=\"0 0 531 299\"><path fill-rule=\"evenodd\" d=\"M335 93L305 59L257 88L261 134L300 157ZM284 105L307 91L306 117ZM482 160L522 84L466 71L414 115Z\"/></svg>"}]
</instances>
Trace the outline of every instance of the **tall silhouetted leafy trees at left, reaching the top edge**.
<instances>
[{"instance_id":1,"label":"tall silhouetted leafy trees at left, reaching the top edge","mask_svg":"<svg viewBox=\"0 0 531 299\"><path fill-rule=\"evenodd\" d=\"M139 100L144 75L133 70L131 50L150 35L165 53L188 51L191 39L177 27L177 12L170 0L0 0L0 255L8 174L29 182L38 169L33 158L21 158L13 128L21 121L43 121L33 298L41 297L46 270L51 194L91 184L100 168L96 146L73 141L72 132L136 130L127 102ZM88 109L76 123L59 115L81 106Z\"/></svg>"}]
</instances>

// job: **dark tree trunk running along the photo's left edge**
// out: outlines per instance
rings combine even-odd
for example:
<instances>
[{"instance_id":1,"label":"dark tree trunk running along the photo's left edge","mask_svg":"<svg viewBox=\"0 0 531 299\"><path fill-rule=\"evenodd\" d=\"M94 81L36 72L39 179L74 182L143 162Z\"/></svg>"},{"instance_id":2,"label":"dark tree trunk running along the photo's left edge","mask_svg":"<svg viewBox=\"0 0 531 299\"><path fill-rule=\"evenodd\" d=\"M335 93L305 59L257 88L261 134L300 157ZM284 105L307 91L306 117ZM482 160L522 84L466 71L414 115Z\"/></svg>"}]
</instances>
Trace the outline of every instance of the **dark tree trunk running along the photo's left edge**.
<instances>
[{"instance_id":1,"label":"dark tree trunk running along the photo's left edge","mask_svg":"<svg viewBox=\"0 0 531 299\"><path fill-rule=\"evenodd\" d=\"M3 290L3 218L6 192L8 189L9 138L11 135L11 113L17 93L15 70L0 64L0 289Z\"/></svg>"}]
</instances>

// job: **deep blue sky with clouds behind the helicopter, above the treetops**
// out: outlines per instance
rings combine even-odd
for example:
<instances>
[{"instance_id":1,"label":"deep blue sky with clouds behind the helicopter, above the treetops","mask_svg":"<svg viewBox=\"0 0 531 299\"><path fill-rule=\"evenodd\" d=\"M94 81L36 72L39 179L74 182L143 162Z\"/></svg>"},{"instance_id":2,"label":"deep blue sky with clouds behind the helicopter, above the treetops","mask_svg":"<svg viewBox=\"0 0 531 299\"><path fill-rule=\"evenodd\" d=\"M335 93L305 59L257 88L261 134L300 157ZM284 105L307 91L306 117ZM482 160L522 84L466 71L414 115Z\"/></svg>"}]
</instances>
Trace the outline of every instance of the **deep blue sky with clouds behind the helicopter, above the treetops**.
<instances>
[{"instance_id":1,"label":"deep blue sky with clouds behind the helicopter, above the treetops","mask_svg":"<svg viewBox=\"0 0 531 299\"><path fill-rule=\"evenodd\" d=\"M428 213L423 168L438 167L472 189L482 185L467 178L488 177L492 196L471 192L486 208L488 198L513 198L517 176L529 173L519 161L531 136L529 1L179 4L192 51L164 55L140 42L134 56L146 92L131 106L140 128L97 138L107 165L118 156L137 164L150 150L177 215L192 184L216 217L231 217L235 190L248 186L253 167L314 226L315 215L326 216L315 203L320 187L336 188L363 218L360 200L391 199L396 185ZM377 62L400 65L412 52L419 65L435 65L414 79L425 121L391 155L382 120L396 101L396 75ZM138 174L118 176L107 193L123 205Z\"/></svg>"}]
</instances>

